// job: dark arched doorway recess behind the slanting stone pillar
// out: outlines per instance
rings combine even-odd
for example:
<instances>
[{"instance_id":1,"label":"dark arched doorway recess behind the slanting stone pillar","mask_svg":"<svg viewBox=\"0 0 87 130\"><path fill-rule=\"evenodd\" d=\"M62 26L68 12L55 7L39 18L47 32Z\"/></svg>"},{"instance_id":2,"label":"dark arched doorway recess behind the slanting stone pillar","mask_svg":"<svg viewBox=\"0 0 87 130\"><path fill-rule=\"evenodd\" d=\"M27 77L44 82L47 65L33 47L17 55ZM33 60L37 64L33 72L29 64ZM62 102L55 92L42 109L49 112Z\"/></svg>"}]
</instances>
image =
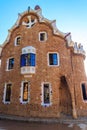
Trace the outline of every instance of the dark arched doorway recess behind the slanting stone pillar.
<instances>
[{"instance_id":1,"label":"dark arched doorway recess behind the slanting stone pillar","mask_svg":"<svg viewBox=\"0 0 87 130\"><path fill-rule=\"evenodd\" d=\"M59 87L59 107L60 114L62 115L72 115L72 101L71 95L69 91L69 86L67 84L67 80L65 76L61 76Z\"/></svg>"}]
</instances>

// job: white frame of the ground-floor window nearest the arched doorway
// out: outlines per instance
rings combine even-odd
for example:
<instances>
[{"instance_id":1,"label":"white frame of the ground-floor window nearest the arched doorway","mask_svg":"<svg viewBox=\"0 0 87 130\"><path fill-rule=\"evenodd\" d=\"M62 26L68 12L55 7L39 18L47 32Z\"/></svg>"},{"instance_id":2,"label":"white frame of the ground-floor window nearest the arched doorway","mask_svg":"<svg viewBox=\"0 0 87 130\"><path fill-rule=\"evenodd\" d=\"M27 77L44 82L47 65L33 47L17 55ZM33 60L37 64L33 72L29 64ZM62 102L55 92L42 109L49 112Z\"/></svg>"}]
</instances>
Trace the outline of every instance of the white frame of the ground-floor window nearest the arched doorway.
<instances>
[{"instance_id":1,"label":"white frame of the ground-floor window nearest the arched doorway","mask_svg":"<svg viewBox=\"0 0 87 130\"><path fill-rule=\"evenodd\" d=\"M50 103L44 103L44 84L49 84ZM41 105L44 107L49 107L52 105L52 87L49 82L42 82L41 84Z\"/></svg>"}]
</instances>

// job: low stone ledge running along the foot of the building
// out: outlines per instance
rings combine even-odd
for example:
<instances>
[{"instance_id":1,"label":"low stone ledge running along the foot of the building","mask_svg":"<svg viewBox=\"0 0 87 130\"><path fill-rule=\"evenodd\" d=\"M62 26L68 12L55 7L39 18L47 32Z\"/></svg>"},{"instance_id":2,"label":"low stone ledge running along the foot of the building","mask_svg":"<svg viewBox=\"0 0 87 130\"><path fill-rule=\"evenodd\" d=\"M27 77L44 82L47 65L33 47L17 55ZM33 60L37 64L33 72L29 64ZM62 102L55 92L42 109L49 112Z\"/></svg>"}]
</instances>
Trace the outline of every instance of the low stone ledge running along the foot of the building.
<instances>
[{"instance_id":1,"label":"low stone ledge running along the foot of the building","mask_svg":"<svg viewBox=\"0 0 87 130\"><path fill-rule=\"evenodd\" d=\"M15 121L24 121L24 122L35 122L35 123L61 123L61 124L78 124L84 123L87 124L87 117L79 117L73 119L72 117L67 118L37 118L37 117L19 117L12 115L0 114L0 119L4 120L15 120Z\"/></svg>"}]
</instances>

